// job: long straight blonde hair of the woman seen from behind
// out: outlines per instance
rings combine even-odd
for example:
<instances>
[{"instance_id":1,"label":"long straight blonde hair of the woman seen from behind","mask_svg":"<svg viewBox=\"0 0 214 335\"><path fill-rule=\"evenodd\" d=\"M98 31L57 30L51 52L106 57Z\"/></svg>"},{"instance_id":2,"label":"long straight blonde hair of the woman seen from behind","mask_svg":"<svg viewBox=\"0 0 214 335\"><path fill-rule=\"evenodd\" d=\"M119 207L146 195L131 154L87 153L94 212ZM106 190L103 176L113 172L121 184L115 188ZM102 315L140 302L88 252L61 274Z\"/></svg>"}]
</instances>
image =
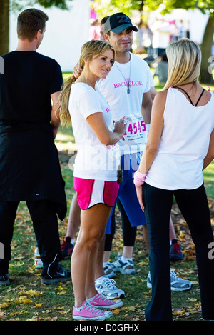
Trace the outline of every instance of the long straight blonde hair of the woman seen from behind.
<instances>
[{"instance_id":1,"label":"long straight blonde hair of the woman seen from behind","mask_svg":"<svg viewBox=\"0 0 214 335\"><path fill-rule=\"evenodd\" d=\"M166 48L168 58L168 79L163 87L178 87L184 84L196 84L200 74L200 47L190 39L179 39Z\"/></svg>"}]
</instances>

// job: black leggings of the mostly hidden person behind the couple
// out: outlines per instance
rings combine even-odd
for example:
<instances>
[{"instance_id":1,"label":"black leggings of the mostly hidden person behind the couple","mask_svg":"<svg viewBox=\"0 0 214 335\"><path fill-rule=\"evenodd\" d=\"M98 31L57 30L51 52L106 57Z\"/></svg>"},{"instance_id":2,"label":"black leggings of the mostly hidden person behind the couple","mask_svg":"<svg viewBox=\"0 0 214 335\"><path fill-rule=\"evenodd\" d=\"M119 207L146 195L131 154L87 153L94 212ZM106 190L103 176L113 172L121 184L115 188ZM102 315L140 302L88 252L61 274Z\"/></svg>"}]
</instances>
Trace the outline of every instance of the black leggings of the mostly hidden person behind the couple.
<instances>
[{"instance_id":1,"label":"black leggings of the mostly hidden person behind the couple","mask_svg":"<svg viewBox=\"0 0 214 335\"><path fill-rule=\"evenodd\" d=\"M118 199L116 204L118 209L121 211L122 227L123 227L123 246L134 246L136 241L136 231L137 227L132 227L126 211L123 209L121 201ZM105 236L105 251L111 251L113 236L115 234L116 221L115 221L115 208L113 209L113 214L111 217L111 234L106 234Z\"/></svg>"}]
</instances>

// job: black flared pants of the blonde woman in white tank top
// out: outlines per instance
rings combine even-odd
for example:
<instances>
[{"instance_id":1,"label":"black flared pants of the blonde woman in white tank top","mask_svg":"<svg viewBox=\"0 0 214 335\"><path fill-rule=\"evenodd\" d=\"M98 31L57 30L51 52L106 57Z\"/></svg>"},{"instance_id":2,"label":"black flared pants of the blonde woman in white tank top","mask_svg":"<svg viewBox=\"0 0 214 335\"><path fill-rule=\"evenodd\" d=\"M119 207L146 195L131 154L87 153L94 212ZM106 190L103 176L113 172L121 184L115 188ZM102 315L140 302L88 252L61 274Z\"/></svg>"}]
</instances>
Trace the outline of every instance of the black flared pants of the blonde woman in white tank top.
<instances>
[{"instance_id":1,"label":"black flared pants of the blonde woman in white tank top","mask_svg":"<svg viewBox=\"0 0 214 335\"><path fill-rule=\"evenodd\" d=\"M213 231L204 186L169 191L143 185L146 224L150 244L149 264L152 298L146 308L147 321L170 321L169 219L173 196L188 224L195 244L203 319L214 319L214 259L208 256Z\"/></svg>"}]
</instances>

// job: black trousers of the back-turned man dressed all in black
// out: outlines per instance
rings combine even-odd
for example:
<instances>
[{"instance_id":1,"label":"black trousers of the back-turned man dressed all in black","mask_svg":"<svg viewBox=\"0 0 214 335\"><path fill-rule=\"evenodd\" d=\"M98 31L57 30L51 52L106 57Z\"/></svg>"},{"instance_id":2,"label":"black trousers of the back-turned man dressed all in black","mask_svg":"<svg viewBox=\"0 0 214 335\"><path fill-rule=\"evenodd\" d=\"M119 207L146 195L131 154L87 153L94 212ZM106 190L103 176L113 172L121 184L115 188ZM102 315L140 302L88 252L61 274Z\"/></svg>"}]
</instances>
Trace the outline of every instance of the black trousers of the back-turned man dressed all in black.
<instances>
[{"instance_id":1,"label":"black trousers of the back-turned man dressed all in black","mask_svg":"<svg viewBox=\"0 0 214 335\"><path fill-rule=\"evenodd\" d=\"M0 201L0 242L4 244L4 260L0 261L0 275L8 271L11 259L11 241L19 201ZM58 219L54 203L46 200L26 201L33 221L41 260L50 264L56 254L60 259L61 246L58 235Z\"/></svg>"}]
</instances>

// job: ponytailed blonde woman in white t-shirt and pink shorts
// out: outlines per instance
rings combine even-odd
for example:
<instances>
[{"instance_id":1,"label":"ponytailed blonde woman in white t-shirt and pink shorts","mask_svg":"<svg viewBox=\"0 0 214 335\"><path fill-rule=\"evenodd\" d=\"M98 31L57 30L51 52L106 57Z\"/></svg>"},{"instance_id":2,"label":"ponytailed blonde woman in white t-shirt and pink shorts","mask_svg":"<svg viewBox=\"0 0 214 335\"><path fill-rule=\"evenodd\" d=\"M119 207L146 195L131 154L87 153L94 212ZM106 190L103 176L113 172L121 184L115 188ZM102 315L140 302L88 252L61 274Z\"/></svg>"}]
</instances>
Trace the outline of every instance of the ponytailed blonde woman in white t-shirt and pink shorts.
<instances>
[{"instance_id":1,"label":"ponytailed blonde woman in white t-shirt and pink shorts","mask_svg":"<svg viewBox=\"0 0 214 335\"><path fill-rule=\"evenodd\" d=\"M113 62L114 49L106 41L86 42L80 57L83 71L78 79L66 81L60 96L61 121L72 121L78 147L73 184L81 208L81 226L71 257L73 319L107 319L112 313L105 309L123 305L120 300L103 298L94 282L99 241L118 193L117 142L126 131L124 120L113 126L108 102L95 89L96 81L106 78Z\"/></svg>"}]
</instances>

